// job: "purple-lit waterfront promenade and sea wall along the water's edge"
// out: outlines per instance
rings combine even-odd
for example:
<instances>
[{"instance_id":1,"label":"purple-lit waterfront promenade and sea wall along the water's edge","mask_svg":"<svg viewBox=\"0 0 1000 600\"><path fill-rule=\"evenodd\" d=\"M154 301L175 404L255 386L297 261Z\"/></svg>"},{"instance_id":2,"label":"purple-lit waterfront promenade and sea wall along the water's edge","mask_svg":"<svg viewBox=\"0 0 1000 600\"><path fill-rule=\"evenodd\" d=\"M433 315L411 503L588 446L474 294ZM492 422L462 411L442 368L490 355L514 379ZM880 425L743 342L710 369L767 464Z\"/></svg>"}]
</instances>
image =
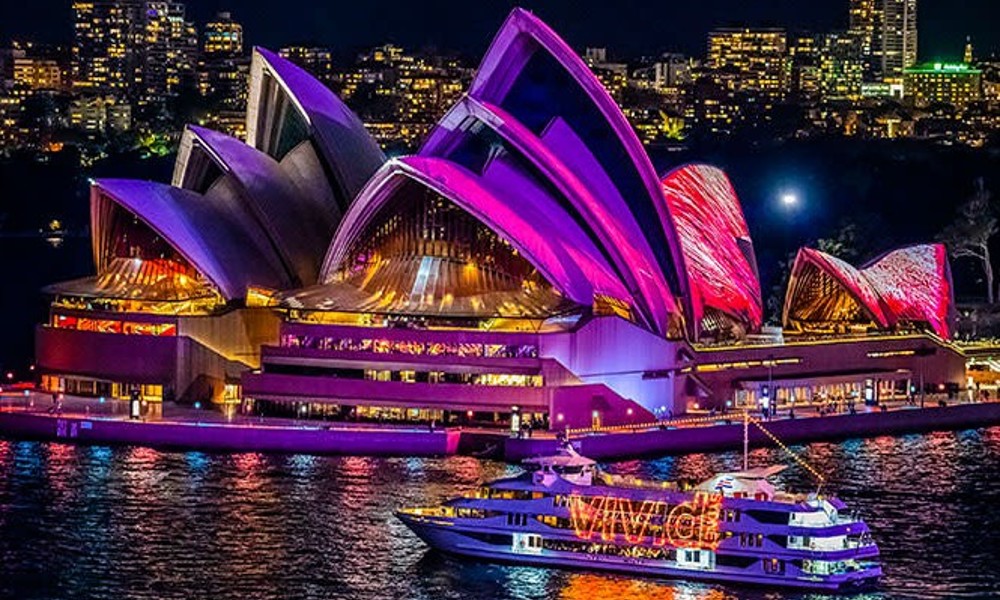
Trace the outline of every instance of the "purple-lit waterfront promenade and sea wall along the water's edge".
<instances>
[{"instance_id":1,"label":"purple-lit waterfront promenade and sea wall along the water's edge","mask_svg":"<svg viewBox=\"0 0 1000 600\"><path fill-rule=\"evenodd\" d=\"M569 439L586 456L619 460L642 456L731 450L743 444L742 413L689 415L643 427L570 430ZM1000 402L923 407L893 402L860 406L856 414L819 414L799 407L764 422L784 443L898 435L935 430L973 429L1000 424ZM500 429L329 422L307 419L226 415L215 409L168 404L157 414L130 419L126 402L67 398L52 412L44 394L0 395L0 436L68 443L137 445L218 452L274 452L370 456L444 456L472 454L510 462L553 452L553 432L511 437ZM771 445L769 436L749 427L753 446Z\"/></svg>"}]
</instances>

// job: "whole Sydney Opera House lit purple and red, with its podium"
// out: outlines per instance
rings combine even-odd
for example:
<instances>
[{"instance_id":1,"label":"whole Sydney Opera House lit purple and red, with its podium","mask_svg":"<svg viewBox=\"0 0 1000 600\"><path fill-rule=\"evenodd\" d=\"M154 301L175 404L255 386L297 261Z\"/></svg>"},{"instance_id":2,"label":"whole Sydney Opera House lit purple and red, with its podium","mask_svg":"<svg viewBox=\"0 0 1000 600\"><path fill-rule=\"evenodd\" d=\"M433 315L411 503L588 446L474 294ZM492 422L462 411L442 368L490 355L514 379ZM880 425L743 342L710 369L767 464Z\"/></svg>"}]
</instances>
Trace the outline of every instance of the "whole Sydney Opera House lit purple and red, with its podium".
<instances>
[{"instance_id":1,"label":"whole Sydney Opera House lit purple and red, with its podium","mask_svg":"<svg viewBox=\"0 0 1000 600\"><path fill-rule=\"evenodd\" d=\"M600 82L515 10L419 152L257 49L247 140L91 189L96 274L48 288L48 389L265 415L552 428L964 386L937 245L803 249L763 328L721 170L659 175Z\"/></svg>"}]
</instances>

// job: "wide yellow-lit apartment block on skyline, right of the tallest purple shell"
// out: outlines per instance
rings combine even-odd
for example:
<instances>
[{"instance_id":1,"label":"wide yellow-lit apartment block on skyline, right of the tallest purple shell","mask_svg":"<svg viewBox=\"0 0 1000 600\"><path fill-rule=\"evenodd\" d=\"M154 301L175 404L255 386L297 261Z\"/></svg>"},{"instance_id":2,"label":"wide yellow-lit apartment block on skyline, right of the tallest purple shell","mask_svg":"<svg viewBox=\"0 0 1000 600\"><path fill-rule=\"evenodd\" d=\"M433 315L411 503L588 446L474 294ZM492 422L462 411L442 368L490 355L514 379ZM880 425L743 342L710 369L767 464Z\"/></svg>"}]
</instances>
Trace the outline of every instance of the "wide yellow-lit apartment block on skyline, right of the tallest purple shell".
<instances>
[{"instance_id":1,"label":"wide yellow-lit apartment block on skyline, right of the tallest purple shell","mask_svg":"<svg viewBox=\"0 0 1000 600\"><path fill-rule=\"evenodd\" d=\"M708 34L708 68L734 92L783 98L788 88L788 38L784 29L716 29Z\"/></svg>"}]
</instances>

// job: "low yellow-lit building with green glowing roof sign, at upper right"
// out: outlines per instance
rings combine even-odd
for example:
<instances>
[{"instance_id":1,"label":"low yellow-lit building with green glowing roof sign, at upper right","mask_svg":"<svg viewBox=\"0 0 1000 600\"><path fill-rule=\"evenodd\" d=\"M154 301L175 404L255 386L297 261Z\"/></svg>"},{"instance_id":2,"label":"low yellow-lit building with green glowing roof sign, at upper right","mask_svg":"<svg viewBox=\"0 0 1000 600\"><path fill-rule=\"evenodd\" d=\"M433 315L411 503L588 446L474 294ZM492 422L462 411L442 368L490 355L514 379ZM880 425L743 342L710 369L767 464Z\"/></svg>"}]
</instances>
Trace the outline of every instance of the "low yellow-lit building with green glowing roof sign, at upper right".
<instances>
[{"instance_id":1,"label":"low yellow-lit building with green glowing roof sign, at upper right","mask_svg":"<svg viewBox=\"0 0 1000 600\"><path fill-rule=\"evenodd\" d=\"M965 108L983 99L983 72L962 63L920 65L904 71L903 93L920 107L950 104Z\"/></svg>"}]
</instances>

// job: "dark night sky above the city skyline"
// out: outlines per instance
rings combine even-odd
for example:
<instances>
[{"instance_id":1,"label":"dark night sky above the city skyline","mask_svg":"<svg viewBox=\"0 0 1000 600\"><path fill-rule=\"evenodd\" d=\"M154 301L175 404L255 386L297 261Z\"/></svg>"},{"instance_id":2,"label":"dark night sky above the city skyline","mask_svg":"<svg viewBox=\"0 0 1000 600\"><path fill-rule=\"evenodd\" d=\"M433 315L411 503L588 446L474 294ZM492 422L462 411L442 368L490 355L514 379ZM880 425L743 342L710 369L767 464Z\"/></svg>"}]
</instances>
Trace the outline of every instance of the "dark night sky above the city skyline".
<instances>
[{"instance_id":1,"label":"dark night sky above the city skyline","mask_svg":"<svg viewBox=\"0 0 1000 600\"><path fill-rule=\"evenodd\" d=\"M0 0L0 42L68 41L70 0ZM847 0L548 0L519 3L573 46L607 46L625 57L704 53L717 26L781 25L828 31L847 26ZM342 52L392 41L408 48L479 55L515 3L490 0L189 0L199 25L230 10L250 44L315 43ZM1000 50L1000 1L920 0L922 59L954 59L972 35L979 55Z\"/></svg>"}]
</instances>

